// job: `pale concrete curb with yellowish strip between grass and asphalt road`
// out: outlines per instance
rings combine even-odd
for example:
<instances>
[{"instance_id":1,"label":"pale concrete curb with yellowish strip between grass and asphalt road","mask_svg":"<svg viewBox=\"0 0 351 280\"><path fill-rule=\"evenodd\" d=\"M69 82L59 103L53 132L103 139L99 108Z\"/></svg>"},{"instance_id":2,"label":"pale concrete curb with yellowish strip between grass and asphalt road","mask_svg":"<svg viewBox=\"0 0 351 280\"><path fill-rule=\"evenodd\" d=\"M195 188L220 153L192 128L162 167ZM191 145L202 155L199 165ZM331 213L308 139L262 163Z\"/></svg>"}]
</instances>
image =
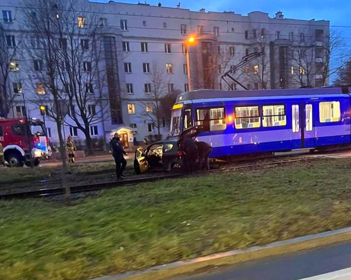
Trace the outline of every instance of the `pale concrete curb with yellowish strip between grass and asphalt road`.
<instances>
[{"instance_id":1,"label":"pale concrete curb with yellowish strip between grass and asphalt road","mask_svg":"<svg viewBox=\"0 0 351 280\"><path fill-rule=\"evenodd\" d=\"M346 240L351 240L351 227L296 237L284 241L276 241L263 246L253 246L247 249L231 250L223 253L197 257L191 260L176 261L166 265L147 268L143 271L126 272L119 275L103 276L90 280L170 279L181 274L194 273L205 267L230 265L240 261L249 261L261 257L292 253Z\"/></svg>"}]
</instances>

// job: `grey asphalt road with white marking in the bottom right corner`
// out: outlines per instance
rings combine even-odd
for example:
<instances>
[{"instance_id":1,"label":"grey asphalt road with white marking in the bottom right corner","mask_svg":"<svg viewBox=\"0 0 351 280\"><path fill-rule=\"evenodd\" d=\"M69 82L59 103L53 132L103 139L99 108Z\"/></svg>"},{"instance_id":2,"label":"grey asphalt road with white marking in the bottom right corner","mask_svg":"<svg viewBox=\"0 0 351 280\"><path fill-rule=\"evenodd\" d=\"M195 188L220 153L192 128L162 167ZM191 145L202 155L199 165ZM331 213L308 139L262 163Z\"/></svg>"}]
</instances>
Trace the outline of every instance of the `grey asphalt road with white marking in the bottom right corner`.
<instances>
[{"instance_id":1,"label":"grey asphalt road with white marking in the bottom right corner","mask_svg":"<svg viewBox=\"0 0 351 280\"><path fill-rule=\"evenodd\" d=\"M313 280L342 280L351 279L351 269L338 271L349 267L351 242L346 242L212 269L178 280L297 280L312 276Z\"/></svg>"}]
</instances>

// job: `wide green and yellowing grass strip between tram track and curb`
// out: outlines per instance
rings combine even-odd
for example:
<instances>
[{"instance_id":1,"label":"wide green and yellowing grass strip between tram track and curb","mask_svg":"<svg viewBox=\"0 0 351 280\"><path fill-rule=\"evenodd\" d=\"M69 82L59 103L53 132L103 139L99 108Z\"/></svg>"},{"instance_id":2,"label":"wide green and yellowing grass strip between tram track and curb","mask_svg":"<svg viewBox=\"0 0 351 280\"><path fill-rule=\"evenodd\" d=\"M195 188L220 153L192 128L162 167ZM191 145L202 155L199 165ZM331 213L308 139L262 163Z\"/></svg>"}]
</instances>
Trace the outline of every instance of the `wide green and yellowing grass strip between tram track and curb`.
<instances>
[{"instance_id":1,"label":"wide green and yellowing grass strip between tram track and curb","mask_svg":"<svg viewBox=\"0 0 351 280\"><path fill-rule=\"evenodd\" d=\"M87 279L351 224L350 159L0 202L0 279Z\"/></svg>"}]
</instances>

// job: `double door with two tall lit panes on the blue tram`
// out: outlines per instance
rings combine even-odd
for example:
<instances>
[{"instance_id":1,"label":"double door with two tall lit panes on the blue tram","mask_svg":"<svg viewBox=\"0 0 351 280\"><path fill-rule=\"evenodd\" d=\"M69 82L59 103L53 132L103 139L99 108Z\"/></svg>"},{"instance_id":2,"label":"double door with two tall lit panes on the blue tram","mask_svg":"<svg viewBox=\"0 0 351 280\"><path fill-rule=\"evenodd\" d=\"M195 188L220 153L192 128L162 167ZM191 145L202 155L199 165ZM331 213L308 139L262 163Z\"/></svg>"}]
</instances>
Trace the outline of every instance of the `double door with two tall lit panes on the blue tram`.
<instances>
[{"instance_id":1,"label":"double door with two tall lit panes on the blue tram","mask_svg":"<svg viewBox=\"0 0 351 280\"><path fill-rule=\"evenodd\" d=\"M302 102L293 104L292 109L292 133L294 148L314 147L314 127L312 104Z\"/></svg>"}]
</instances>

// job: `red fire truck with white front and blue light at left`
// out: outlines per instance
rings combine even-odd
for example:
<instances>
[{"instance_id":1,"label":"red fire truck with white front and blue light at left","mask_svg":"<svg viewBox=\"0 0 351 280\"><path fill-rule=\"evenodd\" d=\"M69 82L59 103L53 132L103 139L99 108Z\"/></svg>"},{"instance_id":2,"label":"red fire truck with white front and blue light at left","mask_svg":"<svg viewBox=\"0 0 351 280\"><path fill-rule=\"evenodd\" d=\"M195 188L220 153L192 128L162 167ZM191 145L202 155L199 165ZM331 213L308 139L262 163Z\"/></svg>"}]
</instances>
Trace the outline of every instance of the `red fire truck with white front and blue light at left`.
<instances>
[{"instance_id":1,"label":"red fire truck with white front and blue light at left","mask_svg":"<svg viewBox=\"0 0 351 280\"><path fill-rule=\"evenodd\" d=\"M51 155L44 123L37 119L0 118L0 142L4 157L11 167L39 165L40 159Z\"/></svg>"}]
</instances>

